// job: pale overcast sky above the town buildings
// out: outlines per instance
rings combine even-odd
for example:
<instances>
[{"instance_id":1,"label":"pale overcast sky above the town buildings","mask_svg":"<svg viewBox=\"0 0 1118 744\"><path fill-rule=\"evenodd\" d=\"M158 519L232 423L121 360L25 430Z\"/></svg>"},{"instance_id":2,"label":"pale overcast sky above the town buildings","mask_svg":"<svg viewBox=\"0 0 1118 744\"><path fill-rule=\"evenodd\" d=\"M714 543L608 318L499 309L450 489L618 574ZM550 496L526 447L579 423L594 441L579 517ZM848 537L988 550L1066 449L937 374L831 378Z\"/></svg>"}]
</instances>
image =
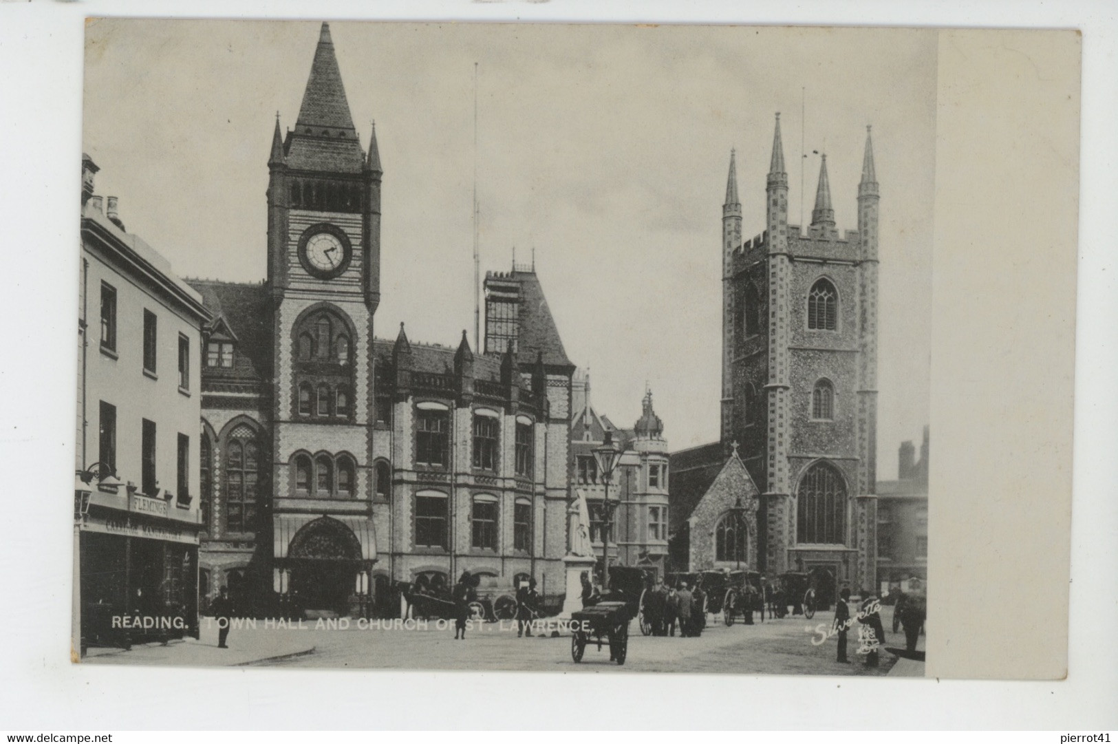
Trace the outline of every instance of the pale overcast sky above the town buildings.
<instances>
[{"instance_id":1,"label":"pale overcast sky above the town buildings","mask_svg":"<svg viewBox=\"0 0 1118 744\"><path fill-rule=\"evenodd\" d=\"M97 192L120 197L129 232L180 275L264 279L272 131L276 112L294 125L319 27L87 26ZM802 194L809 220L825 151L837 227L854 229L873 124L878 473L896 477L899 444L928 422L935 31L332 22L331 34L361 143L376 120L385 170L377 335L400 321L418 341L472 333L476 172L482 274L534 251L595 407L632 425L647 384L673 451L718 437L730 149L746 237L764 228L776 112L789 222Z\"/></svg>"}]
</instances>

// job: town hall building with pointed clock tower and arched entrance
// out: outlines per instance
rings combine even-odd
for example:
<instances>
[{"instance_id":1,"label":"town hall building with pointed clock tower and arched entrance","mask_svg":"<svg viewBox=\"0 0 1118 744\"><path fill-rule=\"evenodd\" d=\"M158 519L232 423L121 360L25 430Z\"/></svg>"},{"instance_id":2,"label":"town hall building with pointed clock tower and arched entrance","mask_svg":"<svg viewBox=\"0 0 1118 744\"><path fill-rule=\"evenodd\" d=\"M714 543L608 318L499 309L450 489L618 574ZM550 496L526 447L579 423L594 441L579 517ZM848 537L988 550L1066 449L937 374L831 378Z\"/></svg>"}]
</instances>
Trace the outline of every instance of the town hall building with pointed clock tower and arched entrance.
<instances>
[{"instance_id":1,"label":"town hall building with pointed clock tower and arched entrance","mask_svg":"<svg viewBox=\"0 0 1118 744\"><path fill-rule=\"evenodd\" d=\"M571 376L532 267L486 277L485 352L375 333L376 131L322 25L267 167L267 279L191 281L205 333L199 594L267 614L398 612L463 571L563 591ZM394 249L394 246L385 246Z\"/></svg>"}]
</instances>

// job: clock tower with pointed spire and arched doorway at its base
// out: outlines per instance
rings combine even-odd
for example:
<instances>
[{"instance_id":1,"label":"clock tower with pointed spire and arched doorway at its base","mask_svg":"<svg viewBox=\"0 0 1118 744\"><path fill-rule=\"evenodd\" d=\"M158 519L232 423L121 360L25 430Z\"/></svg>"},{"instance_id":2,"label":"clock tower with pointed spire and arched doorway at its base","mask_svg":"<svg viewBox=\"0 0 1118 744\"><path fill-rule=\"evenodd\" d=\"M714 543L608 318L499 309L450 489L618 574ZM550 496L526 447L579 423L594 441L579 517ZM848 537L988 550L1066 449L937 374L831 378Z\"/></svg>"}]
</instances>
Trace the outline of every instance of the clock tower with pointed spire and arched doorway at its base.
<instances>
[{"instance_id":1,"label":"clock tower with pointed spire and arched doorway at its base","mask_svg":"<svg viewBox=\"0 0 1118 744\"><path fill-rule=\"evenodd\" d=\"M330 27L299 119L268 158L273 588L345 613L368 594L380 158L361 148Z\"/></svg>"}]
</instances>

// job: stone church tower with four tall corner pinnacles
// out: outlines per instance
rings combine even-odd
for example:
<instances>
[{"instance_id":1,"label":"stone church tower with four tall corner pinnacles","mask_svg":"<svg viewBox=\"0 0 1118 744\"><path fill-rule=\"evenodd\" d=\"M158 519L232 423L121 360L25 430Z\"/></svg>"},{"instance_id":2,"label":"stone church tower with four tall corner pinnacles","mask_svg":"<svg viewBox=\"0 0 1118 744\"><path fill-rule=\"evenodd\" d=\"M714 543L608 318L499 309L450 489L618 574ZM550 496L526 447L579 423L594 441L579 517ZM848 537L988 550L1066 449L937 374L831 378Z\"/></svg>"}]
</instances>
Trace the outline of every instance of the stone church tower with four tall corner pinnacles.
<instances>
[{"instance_id":1,"label":"stone church tower with four tall corner pinnacles","mask_svg":"<svg viewBox=\"0 0 1118 744\"><path fill-rule=\"evenodd\" d=\"M765 230L742 241L735 153L722 206L723 458L761 491L760 569L875 585L878 182L869 135L858 229L835 226L826 156L806 228L788 225L776 117Z\"/></svg>"}]
</instances>

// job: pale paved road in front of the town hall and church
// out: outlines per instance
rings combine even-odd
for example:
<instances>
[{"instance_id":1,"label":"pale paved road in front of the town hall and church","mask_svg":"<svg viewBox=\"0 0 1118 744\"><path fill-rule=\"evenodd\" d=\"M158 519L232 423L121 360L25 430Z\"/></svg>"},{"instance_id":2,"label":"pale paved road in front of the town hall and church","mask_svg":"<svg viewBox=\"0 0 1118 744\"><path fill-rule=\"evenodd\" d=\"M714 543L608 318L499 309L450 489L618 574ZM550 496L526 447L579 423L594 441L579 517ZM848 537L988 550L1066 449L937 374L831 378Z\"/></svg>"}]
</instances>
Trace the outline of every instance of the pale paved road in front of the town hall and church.
<instances>
[{"instance_id":1,"label":"pale paved road in front of the town hall and church","mask_svg":"<svg viewBox=\"0 0 1118 744\"><path fill-rule=\"evenodd\" d=\"M901 633L888 632L891 620L885 609L882 620L887 646L903 647ZM570 657L570 635L518 639L512 623L486 623L454 640L453 628L439 630L432 622L426 630L387 629L373 625L359 630L267 631L301 633L310 638L314 652L288 659L263 661L283 667L349 667L380 669L455 669L561 672L735 672L814 674L880 676L888 674L896 657L881 654L881 665L868 668L854 651L856 629L850 638L852 663L835 661L835 639L813 644L816 628L831 625L832 613L817 613L811 621L786 618L754 625L710 624L701 638L646 638L631 624L628 658L623 667L609 662L606 647L599 652L587 647L581 663ZM720 620L720 618L719 618ZM257 631L260 632L260 631ZM922 639L921 639L922 640ZM230 641L233 642L233 641ZM922 644L921 644L922 648ZM922 665L921 665L922 666Z\"/></svg>"}]
</instances>

